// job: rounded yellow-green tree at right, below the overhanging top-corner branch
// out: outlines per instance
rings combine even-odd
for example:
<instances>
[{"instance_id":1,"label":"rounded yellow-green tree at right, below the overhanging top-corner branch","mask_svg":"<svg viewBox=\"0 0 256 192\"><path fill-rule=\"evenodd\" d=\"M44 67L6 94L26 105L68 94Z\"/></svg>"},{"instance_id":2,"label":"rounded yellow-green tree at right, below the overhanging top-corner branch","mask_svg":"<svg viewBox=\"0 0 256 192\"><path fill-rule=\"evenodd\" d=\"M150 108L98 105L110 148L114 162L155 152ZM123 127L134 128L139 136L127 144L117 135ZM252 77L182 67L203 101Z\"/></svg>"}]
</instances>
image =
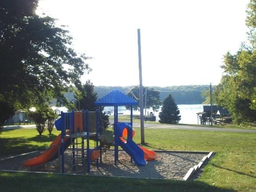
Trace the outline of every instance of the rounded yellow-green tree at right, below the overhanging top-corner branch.
<instances>
[{"instance_id":1,"label":"rounded yellow-green tree at right, below the overhanging top-corner branch","mask_svg":"<svg viewBox=\"0 0 256 192\"><path fill-rule=\"evenodd\" d=\"M251 76L249 79L256 78L256 74L245 75L245 73L253 73L253 71L243 66L248 61L248 59L244 61L246 58L244 52L248 51L241 50L234 56L230 53L225 55L222 66L225 75L213 93L216 95L216 103L228 109L236 124L256 121L255 102L253 101L255 82L250 82L247 78L248 76Z\"/></svg>"}]
</instances>

